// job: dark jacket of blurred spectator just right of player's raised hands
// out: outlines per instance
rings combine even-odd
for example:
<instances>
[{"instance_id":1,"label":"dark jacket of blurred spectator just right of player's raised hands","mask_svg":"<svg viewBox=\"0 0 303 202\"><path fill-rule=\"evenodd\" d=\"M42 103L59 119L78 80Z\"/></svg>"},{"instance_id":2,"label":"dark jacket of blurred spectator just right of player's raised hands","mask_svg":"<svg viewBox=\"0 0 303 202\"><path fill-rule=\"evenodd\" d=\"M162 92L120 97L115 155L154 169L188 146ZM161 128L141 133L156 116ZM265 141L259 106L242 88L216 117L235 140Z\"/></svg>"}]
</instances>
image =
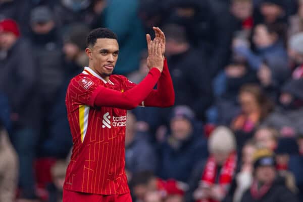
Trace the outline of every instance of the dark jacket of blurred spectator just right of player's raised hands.
<instances>
[{"instance_id":1,"label":"dark jacket of blurred spectator just right of player's raised hands","mask_svg":"<svg viewBox=\"0 0 303 202\"><path fill-rule=\"evenodd\" d=\"M189 49L168 57L175 89L175 105L188 105L198 119L212 104L213 92L210 70L203 53Z\"/></svg>"}]
</instances>

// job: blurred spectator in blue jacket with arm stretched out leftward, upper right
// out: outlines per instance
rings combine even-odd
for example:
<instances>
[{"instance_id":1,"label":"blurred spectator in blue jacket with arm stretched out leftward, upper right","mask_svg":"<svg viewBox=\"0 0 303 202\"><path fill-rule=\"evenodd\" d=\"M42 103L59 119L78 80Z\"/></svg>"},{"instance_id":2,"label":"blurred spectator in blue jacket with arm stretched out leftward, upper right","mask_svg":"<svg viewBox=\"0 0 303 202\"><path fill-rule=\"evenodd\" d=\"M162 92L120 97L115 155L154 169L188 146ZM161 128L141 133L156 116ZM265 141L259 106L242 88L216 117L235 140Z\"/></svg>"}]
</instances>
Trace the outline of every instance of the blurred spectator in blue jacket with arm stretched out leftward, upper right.
<instances>
[{"instance_id":1,"label":"blurred spectator in blue jacket with arm stretched out leftward, upper right","mask_svg":"<svg viewBox=\"0 0 303 202\"><path fill-rule=\"evenodd\" d=\"M290 75L284 48L284 30L278 25L259 24L254 29L252 41L255 52L251 51L248 42L240 39L234 41L233 50L257 71L263 88L276 99L279 88Z\"/></svg>"}]
</instances>

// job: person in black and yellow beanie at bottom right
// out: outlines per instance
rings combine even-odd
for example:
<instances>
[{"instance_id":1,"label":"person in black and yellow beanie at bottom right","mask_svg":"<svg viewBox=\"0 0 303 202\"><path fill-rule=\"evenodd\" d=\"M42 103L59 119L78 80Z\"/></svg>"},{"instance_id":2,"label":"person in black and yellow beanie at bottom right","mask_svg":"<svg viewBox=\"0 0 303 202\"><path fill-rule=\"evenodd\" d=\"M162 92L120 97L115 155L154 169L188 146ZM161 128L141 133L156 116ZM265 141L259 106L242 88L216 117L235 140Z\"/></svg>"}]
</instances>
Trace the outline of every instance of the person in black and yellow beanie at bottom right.
<instances>
[{"instance_id":1,"label":"person in black and yellow beanie at bottom right","mask_svg":"<svg viewBox=\"0 0 303 202\"><path fill-rule=\"evenodd\" d=\"M268 149L259 149L254 154L254 181L241 201L296 202L297 198L279 180L276 171L274 153Z\"/></svg>"}]
</instances>

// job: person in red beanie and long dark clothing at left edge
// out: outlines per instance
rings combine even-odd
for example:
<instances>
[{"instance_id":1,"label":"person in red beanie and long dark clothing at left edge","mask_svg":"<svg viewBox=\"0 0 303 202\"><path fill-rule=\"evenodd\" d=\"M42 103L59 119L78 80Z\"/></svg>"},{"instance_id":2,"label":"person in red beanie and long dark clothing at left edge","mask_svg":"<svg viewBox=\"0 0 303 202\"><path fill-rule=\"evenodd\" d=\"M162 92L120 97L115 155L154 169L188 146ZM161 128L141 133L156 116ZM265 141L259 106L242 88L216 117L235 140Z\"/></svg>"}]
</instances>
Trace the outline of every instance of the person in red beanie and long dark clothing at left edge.
<instances>
[{"instance_id":1,"label":"person in red beanie and long dark clothing at left edge","mask_svg":"<svg viewBox=\"0 0 303 202\"><path fill-rule=\"evenodd\" d=\"M36 82L36 66L32 46L20 37L16 22L6 19L0 22L1 60L0 91L7 94L11 104L13 131L11 138L19 155L21 192L26 198L34 197L33 160L38 141L39 100Z\"/></svg>"}]
</instances>

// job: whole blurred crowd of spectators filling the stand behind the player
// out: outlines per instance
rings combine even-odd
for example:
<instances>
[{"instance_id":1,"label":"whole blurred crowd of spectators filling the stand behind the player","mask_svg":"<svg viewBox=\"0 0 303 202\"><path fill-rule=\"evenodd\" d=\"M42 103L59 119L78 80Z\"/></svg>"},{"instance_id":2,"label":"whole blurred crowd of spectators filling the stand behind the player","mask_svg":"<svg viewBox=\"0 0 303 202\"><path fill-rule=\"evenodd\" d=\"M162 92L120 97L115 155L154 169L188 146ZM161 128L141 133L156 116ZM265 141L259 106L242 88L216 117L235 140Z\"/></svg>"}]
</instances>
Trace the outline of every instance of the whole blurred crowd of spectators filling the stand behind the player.
<instances>
[{"instance_id":1,"label":"whole blurred crowd of spectators filling the stand behind the player","mask_svg":"<svg viewBox=\"0 0 303 202\"><path fill-rule=\"evenodd\" d=\"M133 201L303 201L302 0L0 0L0 202L62 201L88 32L139 83L153 26L176 99L128 112Z\"/></svg>"}]
</instances>

